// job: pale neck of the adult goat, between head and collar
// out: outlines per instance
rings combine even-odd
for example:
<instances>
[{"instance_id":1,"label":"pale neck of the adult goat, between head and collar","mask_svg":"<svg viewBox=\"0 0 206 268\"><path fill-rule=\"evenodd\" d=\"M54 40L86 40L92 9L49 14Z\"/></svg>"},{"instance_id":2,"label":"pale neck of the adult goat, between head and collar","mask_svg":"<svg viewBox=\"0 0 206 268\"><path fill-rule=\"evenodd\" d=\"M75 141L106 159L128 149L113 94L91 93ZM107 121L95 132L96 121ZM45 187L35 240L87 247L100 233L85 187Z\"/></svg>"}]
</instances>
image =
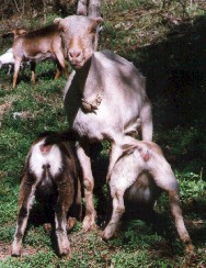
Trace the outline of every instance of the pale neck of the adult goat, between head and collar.
<instances>
[{"instance_id":1,"label":"pale neck of the adult goat, between head and collar","mask_svg":"<svg viewBox=\"0 0 206 268\"><path fill-rule=\"evenodd\" d=\"M92 100L103 90L100 64L92 56L87 65L77 71L79 89L81 97L85 100Z\"/></svg>"}]
</instances>

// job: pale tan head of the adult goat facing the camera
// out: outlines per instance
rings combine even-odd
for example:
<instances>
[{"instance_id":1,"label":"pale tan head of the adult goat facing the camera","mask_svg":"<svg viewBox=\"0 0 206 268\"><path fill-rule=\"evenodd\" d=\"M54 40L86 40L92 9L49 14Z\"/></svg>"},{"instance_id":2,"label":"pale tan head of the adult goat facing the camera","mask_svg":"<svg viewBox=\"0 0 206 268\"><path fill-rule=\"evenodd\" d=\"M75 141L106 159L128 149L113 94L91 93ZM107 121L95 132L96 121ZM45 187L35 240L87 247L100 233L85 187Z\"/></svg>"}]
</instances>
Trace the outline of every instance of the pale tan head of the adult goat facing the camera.
<instances>
[{"instance_id":1,"label":"pale tan head of the adult goat facing the camera","mask_svg":"<svg viewBox=\"0 0 206 268\"><path fill-rule=\"evenodd\" d=\"M91 19L83 15L70 15L56 19L68 60L76 69L80 69L94 52L95 32L102 18Z\"/></svg>"}]
</instances>

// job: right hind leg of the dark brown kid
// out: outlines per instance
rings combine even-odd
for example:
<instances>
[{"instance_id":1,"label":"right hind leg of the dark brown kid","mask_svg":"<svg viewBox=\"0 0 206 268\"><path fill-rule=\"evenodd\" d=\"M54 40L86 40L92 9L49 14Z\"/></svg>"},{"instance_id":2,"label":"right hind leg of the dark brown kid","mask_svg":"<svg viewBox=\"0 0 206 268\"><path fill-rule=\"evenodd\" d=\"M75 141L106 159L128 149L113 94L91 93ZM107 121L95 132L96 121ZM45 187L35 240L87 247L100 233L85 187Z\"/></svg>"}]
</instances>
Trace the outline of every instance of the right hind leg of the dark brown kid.
<instances>
[{"instance_id":1,"label":"right hind leg of the dark brown kid","mask_svg":"<svg viewBox=\"0 0 206 268\"><path fill-rule=\"evenodd\" d=\"M58 199L55 208L55 224L59 254L70 255L70 244L67 237L67 213L72 204L75 196L72 178L61 178L57 181Z\"/></svg>"}]
</instances>

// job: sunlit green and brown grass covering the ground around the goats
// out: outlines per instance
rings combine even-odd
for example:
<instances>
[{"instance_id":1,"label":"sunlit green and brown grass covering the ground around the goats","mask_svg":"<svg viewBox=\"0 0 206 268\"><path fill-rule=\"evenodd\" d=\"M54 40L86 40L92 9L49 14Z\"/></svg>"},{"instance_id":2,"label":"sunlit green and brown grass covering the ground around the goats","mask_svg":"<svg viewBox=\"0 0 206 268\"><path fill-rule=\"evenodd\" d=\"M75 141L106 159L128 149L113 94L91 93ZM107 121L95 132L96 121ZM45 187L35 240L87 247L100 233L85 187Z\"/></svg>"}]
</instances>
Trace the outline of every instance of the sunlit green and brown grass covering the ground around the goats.
<instances>
[{"instance_id":1,"label":"sunlit green and brown grass covering the ground around the goats","mask_svg":"<svg viewBox=\"0 0 206 268\"><path fill-rule=\"evenodd\" d=\"M67 127L62 108L62 76L54 81L53 63L37 64L37 83L30 70L21 72L11 88L12 76L0 70L0 267L205 267L206 266L206 133L205 133L205 25L204 1L112 0L103 3L104 27L101 48L134 62L147 77L153 104L154 141L161 145L180 182L186 227L195 245L187 259L170 217L168 199L160 198L158 225L138 219L123 222L110 242L101 239L105 215L105 172L108 143L94 156L95 205L100 227L81 232L81 223L69 233L70 260L59 258L53 234L43 230L44 212L36 203L23 242L23 256L10 257L20 177L32 141L46 130ZM55 14L47 16L53 21ZM178 22L178 24L176 24ZM31 26L31 21L25 24ZM34 25L37 25L34 22ZM3 53L11 41L2 40Z\"/></svg>"}]
</instances>

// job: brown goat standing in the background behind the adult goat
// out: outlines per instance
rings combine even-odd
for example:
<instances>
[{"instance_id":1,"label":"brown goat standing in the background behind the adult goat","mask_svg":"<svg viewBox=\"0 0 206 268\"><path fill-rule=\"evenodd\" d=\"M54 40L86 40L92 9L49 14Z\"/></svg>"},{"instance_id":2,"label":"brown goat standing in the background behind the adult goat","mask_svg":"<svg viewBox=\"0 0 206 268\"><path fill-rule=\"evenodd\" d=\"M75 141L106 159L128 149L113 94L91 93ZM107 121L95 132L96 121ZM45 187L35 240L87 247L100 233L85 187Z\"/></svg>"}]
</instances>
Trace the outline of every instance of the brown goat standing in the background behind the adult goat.
<instances>
[{"instance_id":1,"label":"brown goat standing in the background behind the adult goat","mask_svg":"<svg viewBox=\"0 0 206 268\"><path fill-rule=\"evenodd\" d=\"M48 25L36 31L20 34L13 30L13 55L15 59L13 88L16 86L18 74L22 62L31 63L32 82L35 83L35 63L45 59L57 62L57 71L55 79L58 79L61 69L64 69L66 78L68 78L67 64L65 62L61 37L57 25Z\"/></svg>"}]
</instances>

